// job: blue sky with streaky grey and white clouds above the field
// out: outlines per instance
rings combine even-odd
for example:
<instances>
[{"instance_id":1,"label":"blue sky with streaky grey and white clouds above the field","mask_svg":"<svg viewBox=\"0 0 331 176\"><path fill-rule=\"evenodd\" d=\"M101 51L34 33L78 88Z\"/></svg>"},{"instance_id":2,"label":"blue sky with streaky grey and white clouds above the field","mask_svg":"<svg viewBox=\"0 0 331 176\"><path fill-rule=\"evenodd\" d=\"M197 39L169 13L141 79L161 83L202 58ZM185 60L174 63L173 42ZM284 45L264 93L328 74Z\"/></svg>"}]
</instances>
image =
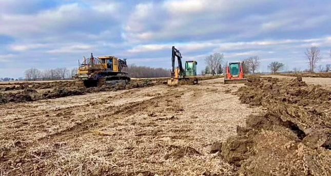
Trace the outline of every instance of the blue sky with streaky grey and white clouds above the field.
<instances>
[{"instance_id":1,"label":"blue sky with streaky grey and white clouds above the field","mask_svg":"<svg viewBox=\"0 0 331 176\"><path fill-rule=\"evenodd\" d=\"M171 47L183 60L223 53L224 61L261 58L307 69L317 46L331 63L331 1L266 0L0 0L0 77L29 68L75 68L89 56L170 69Z\"/></svg>"}]
</instances>

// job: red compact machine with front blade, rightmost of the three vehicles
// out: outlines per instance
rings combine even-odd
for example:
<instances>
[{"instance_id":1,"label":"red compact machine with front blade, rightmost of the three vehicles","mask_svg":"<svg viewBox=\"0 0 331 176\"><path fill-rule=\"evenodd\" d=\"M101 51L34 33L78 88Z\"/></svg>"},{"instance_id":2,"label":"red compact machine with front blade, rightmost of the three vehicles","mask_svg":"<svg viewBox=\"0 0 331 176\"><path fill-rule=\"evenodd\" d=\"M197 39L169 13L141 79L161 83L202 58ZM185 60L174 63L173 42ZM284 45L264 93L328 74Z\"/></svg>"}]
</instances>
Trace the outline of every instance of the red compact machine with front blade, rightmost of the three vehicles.
<instances>
[{"instance_id":1,"label":"red compact machine with front blade, rightmost of the three vehicles","mask_svg":"<svg viewBox=\"0 0 331 176\"><path fill-rule=\"evenodd\" d=\"M226 67L224 84L245 83L247 79L244 77L242 64L240 62L230 62Z\"/></svg>"}]
</instances>

